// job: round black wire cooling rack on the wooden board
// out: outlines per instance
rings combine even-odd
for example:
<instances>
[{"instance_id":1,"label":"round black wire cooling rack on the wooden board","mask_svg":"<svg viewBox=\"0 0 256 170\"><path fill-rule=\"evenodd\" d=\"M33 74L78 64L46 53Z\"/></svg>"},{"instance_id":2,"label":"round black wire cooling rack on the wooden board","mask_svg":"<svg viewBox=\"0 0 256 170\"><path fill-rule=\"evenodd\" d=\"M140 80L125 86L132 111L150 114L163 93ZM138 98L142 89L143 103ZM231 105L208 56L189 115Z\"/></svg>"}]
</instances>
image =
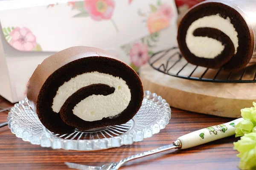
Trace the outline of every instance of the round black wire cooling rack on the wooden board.
<instances>
[{"instance_id":1,"label":"round black wire cooling rack on the wooden board","mask_svg":"<svg viewBox=\"0 0 256 170\"><path fill-rule=\"evenodd\" d=\"M236 73L224 71L223 68L205 68L188 63L178 47L154 53L149 64L157 71L182 79L221 83L256 82L256 65L247 66Z\"/></svg>"}]
</instances>

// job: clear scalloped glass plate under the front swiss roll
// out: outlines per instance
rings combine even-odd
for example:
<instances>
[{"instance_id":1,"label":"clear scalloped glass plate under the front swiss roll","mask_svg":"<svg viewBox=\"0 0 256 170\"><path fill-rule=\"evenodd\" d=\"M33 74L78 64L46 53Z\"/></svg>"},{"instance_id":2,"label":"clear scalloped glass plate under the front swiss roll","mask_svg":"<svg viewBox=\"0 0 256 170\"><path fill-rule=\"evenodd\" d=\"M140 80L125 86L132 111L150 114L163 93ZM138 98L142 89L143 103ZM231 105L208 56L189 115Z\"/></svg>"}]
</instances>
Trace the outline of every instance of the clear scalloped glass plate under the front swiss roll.
<instances>
[{"instance_id":1,"label":"clear scalloped glass plate under the front swiss roll","mask_svg":"<svg viewBox=\"0 0 256 170\"><path fill-rule=\"evenodd\" d=\"M8 126L18 138L41 147L65 150L102 150L143 141L159 133L171 119L171 108L161 96L144 92L142 106L138 113L123 125L102 127L70 134L55 134L47 130L29 107L28 100L22 100L8 114Z\"/></svg>"}]
</instances>

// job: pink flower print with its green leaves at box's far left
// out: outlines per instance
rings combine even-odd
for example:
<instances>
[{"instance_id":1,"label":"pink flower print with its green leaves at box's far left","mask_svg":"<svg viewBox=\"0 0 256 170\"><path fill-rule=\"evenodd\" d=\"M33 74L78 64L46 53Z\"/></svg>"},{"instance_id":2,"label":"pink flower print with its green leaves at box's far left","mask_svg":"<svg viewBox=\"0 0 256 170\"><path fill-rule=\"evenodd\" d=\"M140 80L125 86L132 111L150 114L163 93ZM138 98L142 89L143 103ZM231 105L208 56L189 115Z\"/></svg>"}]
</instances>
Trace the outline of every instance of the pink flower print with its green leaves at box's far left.
<instances>
[{"instance_id":1,"label":"pink flower print with its green leaves at box's far left","mask_svg":"<svg viewBox=\"0 0 256 170\"><path fill-rule=\"evenodd\" d=\"M3 34L9 44L20 51L42 51L36 42L36 37L28 28L7 27L3 28Z\"/></svg>"}]
</instances>

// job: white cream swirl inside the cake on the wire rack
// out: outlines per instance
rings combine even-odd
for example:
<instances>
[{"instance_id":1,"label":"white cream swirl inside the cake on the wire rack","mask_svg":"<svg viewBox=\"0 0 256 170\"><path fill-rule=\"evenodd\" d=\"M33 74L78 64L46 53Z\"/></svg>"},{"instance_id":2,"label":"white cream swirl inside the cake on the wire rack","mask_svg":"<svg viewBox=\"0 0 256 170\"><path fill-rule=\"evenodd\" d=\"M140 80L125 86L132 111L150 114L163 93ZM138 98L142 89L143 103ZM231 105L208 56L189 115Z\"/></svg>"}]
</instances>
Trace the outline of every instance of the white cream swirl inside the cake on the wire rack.
<instances>
[{"instance_id":1,"label":"white cream swirl inside the cake on the wire rack","mask_svg":"<svg viewBox=\"0 0 256 170\"><path fill-rule=\"evenodd\" d=\"M222 18L219 14L206 16L195 20L187 30L186 45L189 51L197 57L213 59L224 50L225 46L218 40L209 37L195 37L193 32L197 28L209 27L216 28L227 34L235 47L235 54L238 48L238 33L230 22L230 18Z\"/></svg>"}]
</instances>

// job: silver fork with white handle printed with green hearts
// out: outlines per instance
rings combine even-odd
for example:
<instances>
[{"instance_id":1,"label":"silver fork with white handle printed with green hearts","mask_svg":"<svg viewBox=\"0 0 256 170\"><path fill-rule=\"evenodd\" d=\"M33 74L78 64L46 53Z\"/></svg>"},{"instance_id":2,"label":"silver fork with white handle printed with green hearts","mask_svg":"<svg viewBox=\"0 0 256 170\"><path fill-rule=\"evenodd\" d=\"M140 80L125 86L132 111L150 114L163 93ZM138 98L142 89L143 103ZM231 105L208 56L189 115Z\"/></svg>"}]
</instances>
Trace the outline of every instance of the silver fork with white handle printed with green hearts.
<instances>
[{"instance_id":1,"label":"silver fork with white handle printed with green hearts","mask_svg":"<svg viewBox=\"0 0 256 170\"><path fill-rule=\"evenodd\" d=\"M70 168L78 169L78 170L118 170L125 162L131 161L133 159L152 155L154 153L163 152L165 150L187 149L190 147L195 147L201 144L222 139L228 136L233 136L235 135L235 129L236 129L235 126L237 125L237 123L239 123L242 120L243 118L239 118L221 125L215 125L215 126L207 127L201 130L188 133L186 135L180 136L172 144L167 144L165 146L158 147L153 150L148 150L143 153L138 153L136 155L126 157L125 159L122 159L119 162L110 162L102 166L88 166L88 165L74 164L70 162L65 162L65 164Z\"/></svg>"}]
</instances>

